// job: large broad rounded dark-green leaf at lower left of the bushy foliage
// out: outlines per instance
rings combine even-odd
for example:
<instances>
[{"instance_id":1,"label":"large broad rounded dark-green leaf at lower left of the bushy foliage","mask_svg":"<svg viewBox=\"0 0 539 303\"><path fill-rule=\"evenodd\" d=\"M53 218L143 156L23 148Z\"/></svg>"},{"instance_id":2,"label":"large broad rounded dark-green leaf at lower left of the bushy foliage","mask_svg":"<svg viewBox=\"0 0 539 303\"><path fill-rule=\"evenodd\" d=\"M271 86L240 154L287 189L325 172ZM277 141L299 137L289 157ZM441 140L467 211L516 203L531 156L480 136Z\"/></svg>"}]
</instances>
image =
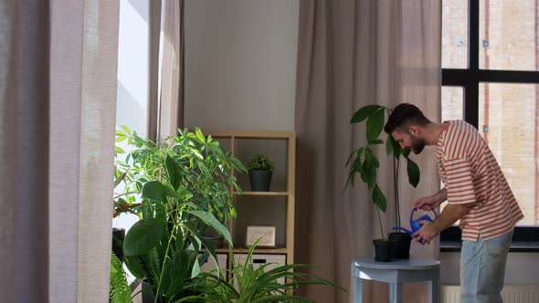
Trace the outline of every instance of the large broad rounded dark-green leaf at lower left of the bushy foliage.
<instances>
[{"instance_id":1,"label":"large broad rounded dark-green leaf at lower left of the bushy foliage","mask_svg":"<svg viewBox=\"0 0 539 303\"><path fill-rule=\"evenodd\" d=\"M164 223L157 219L143 219L132 225L125 235L123 251L126 256L141 256L156 246L163 236Z\"/></svg>"}]
</instances>

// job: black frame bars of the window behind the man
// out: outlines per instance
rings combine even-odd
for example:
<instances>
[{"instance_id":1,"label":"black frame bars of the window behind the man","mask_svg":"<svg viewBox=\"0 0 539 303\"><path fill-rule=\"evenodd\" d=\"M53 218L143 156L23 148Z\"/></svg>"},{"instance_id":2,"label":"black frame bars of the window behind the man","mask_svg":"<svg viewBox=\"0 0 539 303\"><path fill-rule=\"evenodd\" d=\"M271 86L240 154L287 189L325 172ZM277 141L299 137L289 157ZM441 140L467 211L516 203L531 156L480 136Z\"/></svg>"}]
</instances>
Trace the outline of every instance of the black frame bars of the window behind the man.
<instances>
[{"instance_id":1,"label":"black frame bars of the window behind the man","mask_svg":"<svg viewBox=\"0 0 539 303\"><path fill-rule=\"evenodd\" d=\"M448 0L442 0L443 1ZM449 0L450 1L450 0ZM480 0L468 1L468 68L442 68L442 87L464 89L464 120L479 124L480 83L539 85L539 71L480 69ZM443 17L443 16L442 16ZM537 43L537 41L536 41ZM440 234L441 251L460 251L460 228L449 227ZM539 252L539 226L517 226L511 251Z\"/></svg>"}]
</instances>

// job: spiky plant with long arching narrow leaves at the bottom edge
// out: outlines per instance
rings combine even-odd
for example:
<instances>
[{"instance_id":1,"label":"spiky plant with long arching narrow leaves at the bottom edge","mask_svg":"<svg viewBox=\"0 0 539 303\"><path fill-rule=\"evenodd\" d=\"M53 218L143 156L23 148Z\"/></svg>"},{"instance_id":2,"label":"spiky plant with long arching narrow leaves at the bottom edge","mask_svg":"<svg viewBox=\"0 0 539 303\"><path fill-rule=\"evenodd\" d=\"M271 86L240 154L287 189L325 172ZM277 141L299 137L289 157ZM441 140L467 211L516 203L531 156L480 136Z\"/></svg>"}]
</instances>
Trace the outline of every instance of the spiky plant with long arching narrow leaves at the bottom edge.
<instances>
[{"instance_id":1,"label":"spiky plant with long arching narrow leaves at the bottom edge","mask_svg":"<svg viewBox=\"0 0 539 303\"><path fill-rule=\"evenodd\" d=\"M228 272L236 280L227 281L220 271L214 273L203 273L197 283L190 286L198 295L184 298L184 302L214 302L214 303L262 303L262 302L313 302L310 299L292 295L292 291L301 285L324 285L337 287L330 281L321 277L293 272L291 270L309 265L276 265L274 263L263 264L259 267L253 266L252 254L259 241L249 247L246 261L232 264L232 269ZM231 260L234 260L232 252L229 253ZM270 269L271 266L274 266ZM217 274L218 273L218 274ZM278 283L278 279L288 278L285 284Z\"/></svg>"}]
</instances>

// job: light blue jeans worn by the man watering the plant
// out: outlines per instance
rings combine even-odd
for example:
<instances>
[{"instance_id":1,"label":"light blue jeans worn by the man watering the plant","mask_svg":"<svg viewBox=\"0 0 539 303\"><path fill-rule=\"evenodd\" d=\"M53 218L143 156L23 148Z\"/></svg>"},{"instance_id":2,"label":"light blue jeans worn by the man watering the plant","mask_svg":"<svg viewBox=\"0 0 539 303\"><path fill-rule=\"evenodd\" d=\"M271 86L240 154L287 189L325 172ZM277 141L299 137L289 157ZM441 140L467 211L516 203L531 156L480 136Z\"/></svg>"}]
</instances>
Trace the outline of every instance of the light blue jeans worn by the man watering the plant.
<instances>
[{"instance_id":1,"label":"light blue jeans worn by the man watering the plant","mask_svg":"<svg viewBox=\"0 0 539 303\"><path fill-rule=\"evenodd\" d=\"M462 240L460 302L502 302L503 277L513 231L490 240Z\"/></svg>"}]
</instances>

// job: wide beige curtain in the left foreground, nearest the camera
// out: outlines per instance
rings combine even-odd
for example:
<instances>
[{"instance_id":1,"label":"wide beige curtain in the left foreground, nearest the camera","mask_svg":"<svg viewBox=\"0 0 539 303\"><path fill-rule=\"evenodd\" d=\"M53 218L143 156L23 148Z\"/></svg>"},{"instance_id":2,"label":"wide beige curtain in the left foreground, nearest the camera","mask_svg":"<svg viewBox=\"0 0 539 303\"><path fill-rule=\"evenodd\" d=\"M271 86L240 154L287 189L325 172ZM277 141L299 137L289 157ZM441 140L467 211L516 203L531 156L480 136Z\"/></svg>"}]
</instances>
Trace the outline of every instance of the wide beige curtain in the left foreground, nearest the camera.
<instances>
[{"instance_id":1,"label":"wide beige curtain in the left foreground, nearest the camera","mask_svg":"<svg viewBox=\"0 0 539 303\"><path fill-rule=\"evenodd\" d=\"M119 6L0 4L5 302L107 302Z\"/></svg>"}]
</instances>

